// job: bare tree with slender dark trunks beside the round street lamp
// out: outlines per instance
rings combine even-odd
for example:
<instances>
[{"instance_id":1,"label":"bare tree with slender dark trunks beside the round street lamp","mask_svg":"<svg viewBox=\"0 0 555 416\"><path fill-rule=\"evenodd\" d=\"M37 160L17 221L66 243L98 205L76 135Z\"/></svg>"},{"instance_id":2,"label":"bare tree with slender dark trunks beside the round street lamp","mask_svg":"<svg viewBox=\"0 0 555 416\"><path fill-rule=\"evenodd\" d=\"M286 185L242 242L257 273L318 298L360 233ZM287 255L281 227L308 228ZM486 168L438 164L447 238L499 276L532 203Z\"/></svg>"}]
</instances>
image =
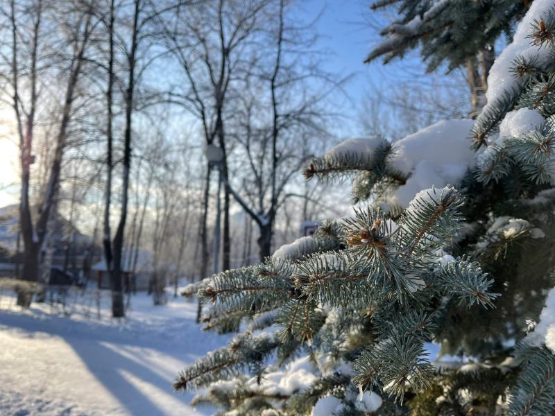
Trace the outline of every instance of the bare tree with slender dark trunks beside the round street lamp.
<instances>
[{"instance_id":1,"label":"bare tree with slender dark trunks beside the round street lamp","mask_svg":"<svg viewBox=\"0 0 555 416\"><path fill-rule=\"evenodd\" d=\"M218 0L177 8L164 22L167 46L187 80L184 92L172 92L170 100L182 105L201 123L207 145L217 144L222 151L221 175L228 182L228 138L225 112L232 80L248 68L253 37L260 30L263 12L270 1ZM207 168L200 225L200 276L205 277L208 263L207 216L210 174ZM230 189L223 198L222 266L230 268Z\"/></svg>"}]
</instances>

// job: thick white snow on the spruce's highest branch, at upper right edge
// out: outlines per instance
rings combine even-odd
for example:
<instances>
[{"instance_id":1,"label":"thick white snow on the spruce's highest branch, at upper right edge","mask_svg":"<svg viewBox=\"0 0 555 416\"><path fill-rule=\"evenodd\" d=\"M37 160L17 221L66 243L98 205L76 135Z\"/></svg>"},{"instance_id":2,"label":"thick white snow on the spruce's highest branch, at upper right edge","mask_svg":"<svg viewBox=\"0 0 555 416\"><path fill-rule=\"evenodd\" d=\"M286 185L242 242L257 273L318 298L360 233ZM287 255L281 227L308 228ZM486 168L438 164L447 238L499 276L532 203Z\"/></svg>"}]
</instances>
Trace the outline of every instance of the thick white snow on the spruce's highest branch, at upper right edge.
<instances>
[{"instance_id":1,"label":"thick white snow on the spruce's highest branch, at upper right edge","mask_svg":"<svg viewBox=\"0 0 555 416\"><path fill-rule=\"evenodd\" d=\"M506 46L502 53L495 59L488 76L488 91L486 98L488 105L493 105L497 98L504 91L510 90L517 82L511 74L512 62L522 56L526 60L537 57L539 62L549 59L549 48L539 48L533 45L532 40L527 37L532 31L534 19L538 19L544 13L549 12L553 8L553 0L535 0L531 4L528 12L516 29L513 42ZM487 105L486 105L487 107Z\"/></svg>"}]
</instances>

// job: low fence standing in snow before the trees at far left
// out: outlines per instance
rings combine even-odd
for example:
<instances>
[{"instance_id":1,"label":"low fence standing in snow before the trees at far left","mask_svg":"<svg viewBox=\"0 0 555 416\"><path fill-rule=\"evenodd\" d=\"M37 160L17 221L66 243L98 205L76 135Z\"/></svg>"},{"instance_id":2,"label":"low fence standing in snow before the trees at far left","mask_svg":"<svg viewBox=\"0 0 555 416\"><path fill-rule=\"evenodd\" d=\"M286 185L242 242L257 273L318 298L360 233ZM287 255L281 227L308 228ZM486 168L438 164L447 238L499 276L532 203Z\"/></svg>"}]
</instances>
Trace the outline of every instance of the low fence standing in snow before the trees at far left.
<instances>
[{"instance_id":1,"label":"low fence standing in snow before the trees at far left","mask_svg":"<svg viewBox=\"0 0 555 416\"><path fill-rule=\"evenodd\" d=\"M109 318L112 292L109 289L81 288L72 285L41 284L33 281L0 278L0 310L21 311L17 295L33 296L33 306L41 305L42 313L79 315L81 318L102 320ZM127 306L128 306L128 302Z\"/></svg>"}]
</instances>

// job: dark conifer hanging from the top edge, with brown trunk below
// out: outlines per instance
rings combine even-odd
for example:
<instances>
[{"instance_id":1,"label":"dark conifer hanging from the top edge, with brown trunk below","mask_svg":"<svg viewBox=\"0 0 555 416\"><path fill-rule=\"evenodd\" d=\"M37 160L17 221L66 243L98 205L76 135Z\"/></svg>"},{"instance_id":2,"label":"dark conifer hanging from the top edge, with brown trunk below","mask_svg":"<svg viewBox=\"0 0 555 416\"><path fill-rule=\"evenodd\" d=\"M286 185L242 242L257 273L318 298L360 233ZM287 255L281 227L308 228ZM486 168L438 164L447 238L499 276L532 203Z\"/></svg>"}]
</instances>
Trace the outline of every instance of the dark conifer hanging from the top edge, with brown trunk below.
<instances>
[{"instance_id":1,"label":"dark conifer hanging from the top edge, with brown trunk below","mask_svg":"<svg viewBox=\"0 0 555 416\"><path fill-rule=\"evenodd\" d=\"M395 8L398 18L385 26L384 37L366 62L379 57L384 63L420 49L427 71L466 69L470 87L470 116L475 118L486 103L488 74L499 37L511 42L515 24L531 1L514 0L377 0L373 10Z\"/></svg>"}]
</instances>

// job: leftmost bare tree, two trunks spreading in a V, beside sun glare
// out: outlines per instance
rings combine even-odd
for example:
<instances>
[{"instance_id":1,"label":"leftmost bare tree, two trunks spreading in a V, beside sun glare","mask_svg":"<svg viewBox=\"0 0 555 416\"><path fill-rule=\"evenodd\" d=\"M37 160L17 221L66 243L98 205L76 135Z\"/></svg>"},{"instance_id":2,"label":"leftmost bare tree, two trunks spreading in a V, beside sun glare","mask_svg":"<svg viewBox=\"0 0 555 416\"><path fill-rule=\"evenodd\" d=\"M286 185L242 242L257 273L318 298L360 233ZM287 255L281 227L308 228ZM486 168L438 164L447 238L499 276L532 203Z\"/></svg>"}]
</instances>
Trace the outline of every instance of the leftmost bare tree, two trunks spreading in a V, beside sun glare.
<instances>
[{"instance_id":1,"label":"leftmost bare tree, two trunks spreading in a V, beside sun glare","mask_svg":"<svg viewBox=\"0 0 555 416\"><path fill-rule=\"evenodd\" d=\"M60 31L54 35L49 33L48 39L43 36L44 24L53 26L53 19L59 13L58 8L67 8L64 20L56 21ZM60 185L62 162L67 147L69 125L73 115L78 81L83 73L86 60L87 46L96 24L93 19L92 6L89 3L49 4L48 8L42 0L15 2L10 1L9 11L4 11L11 23L11 80L8 89L11 91L12 107L15 111L17 132L19 135L20 164L21 164L21 197L19 205L22 240L24 242L22 278L36 281L39 275L40 251L47 234L47 225L51 211L56 201L56 194ZM31 25L20 24L21 19L31 16ZM50 28L50 27L49 27ZM22 33L22 31L28 31ZM56 40L56 53L41 51L53 45L46 44L46 40ZM64 45L60 48L60 45ZM20 48L20 46L23 46ZM67 55L65 55L67 53ZM51 60L47 62L46 60ZM23 62L24 61L24 62ZM64 62L68 62L67 65ZM56 121L56 136L53 143L53 155L49 162L46 186L42 198L38 203L39 209L33 220L33 207L30 202L31 165L34 162L33 141L36 133L37 107L41 96L39 86L44 83L44 77L52 76L40 72L40 67L49 64L61 68L65 79L64 98L60 105L60 112L53 117ZM24 78L24 79L22 79ZM26 98L24 97L26 95ZM18 304L28 306L31 297L21 293Z\"/></svg>"}]
</instances>

